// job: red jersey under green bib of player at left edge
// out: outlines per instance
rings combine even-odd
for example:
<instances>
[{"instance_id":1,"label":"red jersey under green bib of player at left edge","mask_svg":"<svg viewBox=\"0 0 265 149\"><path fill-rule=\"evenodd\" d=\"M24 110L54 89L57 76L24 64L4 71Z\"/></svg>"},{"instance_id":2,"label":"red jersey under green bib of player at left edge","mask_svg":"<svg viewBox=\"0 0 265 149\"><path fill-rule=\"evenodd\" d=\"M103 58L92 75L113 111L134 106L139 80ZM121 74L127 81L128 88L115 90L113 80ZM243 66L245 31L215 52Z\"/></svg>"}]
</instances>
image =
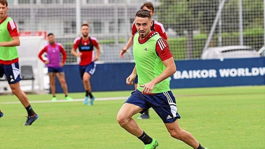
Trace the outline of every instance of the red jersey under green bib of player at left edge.
<instances>
[{"instance_id":1,"label":"red jersey under green bib of player at left edge","mask_svg":"<svg viewBox=\"0 0 265 149\"><path fill-rule=\"evenodd\" d=\"M9 16L6 16L5 19L7 19L8 17ZM0 22L0 24L3 23L5 21L5 19L3 19ZM11 21L8 22L7 29L8 29L8 32L9 32L11 37L19 36L18 32L17 32L17 25L14 22L14 20L11 20ZM9 65L9 64L12 64L12 63L17 63L17 62L18 62L18 58L15 58L14 60L10 60L10 61L0 60L0 64L4 64L4 65Z\"/></svg>"}]
</instances>

